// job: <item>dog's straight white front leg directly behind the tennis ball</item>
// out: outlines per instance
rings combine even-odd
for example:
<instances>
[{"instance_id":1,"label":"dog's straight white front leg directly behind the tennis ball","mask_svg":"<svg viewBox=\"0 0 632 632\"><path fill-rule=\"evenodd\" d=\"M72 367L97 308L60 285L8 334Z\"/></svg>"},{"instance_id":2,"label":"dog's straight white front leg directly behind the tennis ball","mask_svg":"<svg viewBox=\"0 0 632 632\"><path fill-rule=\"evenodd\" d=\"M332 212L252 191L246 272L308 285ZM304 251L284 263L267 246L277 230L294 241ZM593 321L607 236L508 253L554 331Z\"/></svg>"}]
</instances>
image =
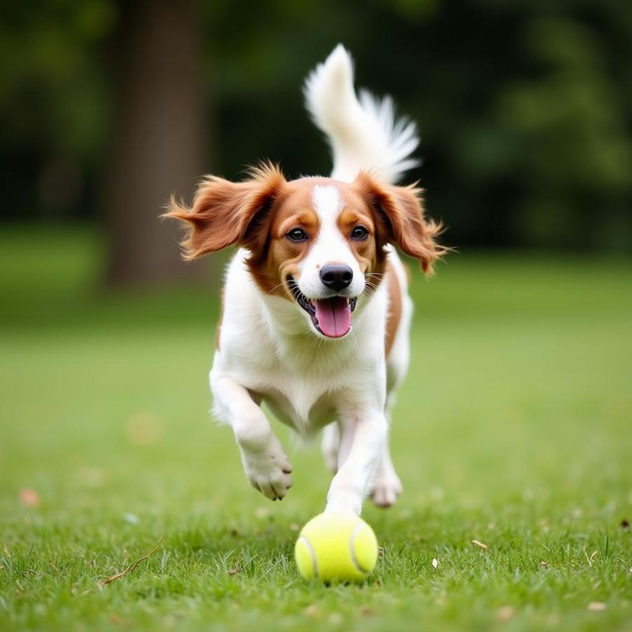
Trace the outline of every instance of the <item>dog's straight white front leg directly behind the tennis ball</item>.
<instances>
[{"instance_id":1,"label":"dog's straight white front leg directly behind the tennis ball","mask_svg":"<svg viewBox=\"0 0 632 632\"><path fill-rule=\"evenodd\" d=\"M386 416L379 409L341 415L338 473L331 481L325 511L351 511L360 515L387 431Z\"/></svg>"}]
</instances>

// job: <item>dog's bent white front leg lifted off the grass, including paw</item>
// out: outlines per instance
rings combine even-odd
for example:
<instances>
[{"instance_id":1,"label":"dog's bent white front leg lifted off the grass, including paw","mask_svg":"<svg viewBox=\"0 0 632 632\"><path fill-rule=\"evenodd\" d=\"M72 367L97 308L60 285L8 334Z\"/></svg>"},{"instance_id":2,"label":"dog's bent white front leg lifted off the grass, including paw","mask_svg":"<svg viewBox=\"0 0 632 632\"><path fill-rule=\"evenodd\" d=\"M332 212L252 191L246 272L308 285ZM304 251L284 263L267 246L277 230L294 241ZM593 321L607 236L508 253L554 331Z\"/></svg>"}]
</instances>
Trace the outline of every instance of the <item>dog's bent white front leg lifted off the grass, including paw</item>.
<instances>
[{"instance_id":1,"label":"dog's bent white front leg lifted off the grass, including paw","mask_svg":"<svg viewBox=\"0 0 632 632\"><path fill-rule=\"evenodd\" d=\"M292 486L292 466L270 421L249 391L233 378L213 375L216 414L232 426L250 484L271 500L281 500Z\"/></svg>"}]
</instances>

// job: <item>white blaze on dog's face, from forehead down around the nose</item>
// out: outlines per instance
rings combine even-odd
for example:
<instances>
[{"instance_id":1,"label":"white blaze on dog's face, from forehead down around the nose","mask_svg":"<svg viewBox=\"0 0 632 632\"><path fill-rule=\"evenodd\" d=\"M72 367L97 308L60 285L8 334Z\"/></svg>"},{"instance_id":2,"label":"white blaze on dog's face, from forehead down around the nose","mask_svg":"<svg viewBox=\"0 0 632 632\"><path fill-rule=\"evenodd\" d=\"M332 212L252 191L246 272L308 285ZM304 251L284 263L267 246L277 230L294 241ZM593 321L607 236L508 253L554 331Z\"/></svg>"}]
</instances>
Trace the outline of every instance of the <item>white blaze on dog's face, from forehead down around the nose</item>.
<instances>
[{"instance_id":1,"label":"white blaze on dog's face, from forehead down around the nose","mask_svg":"<svg viewBox=\"0 0 632 632\"><path fill-rule=\"evenodd\" d=\"M346 263L353 270L353 281L348 289L349 296L362 294L364 277L360 265L338 228L338 217L344 207L338 187L315 186L312 192L312 205L318 216L320 228L310 253L301 263L298 287L308 298L327 296L329 292L320 280L321 268L327 263Z\"/></svg>"}]
</instances>

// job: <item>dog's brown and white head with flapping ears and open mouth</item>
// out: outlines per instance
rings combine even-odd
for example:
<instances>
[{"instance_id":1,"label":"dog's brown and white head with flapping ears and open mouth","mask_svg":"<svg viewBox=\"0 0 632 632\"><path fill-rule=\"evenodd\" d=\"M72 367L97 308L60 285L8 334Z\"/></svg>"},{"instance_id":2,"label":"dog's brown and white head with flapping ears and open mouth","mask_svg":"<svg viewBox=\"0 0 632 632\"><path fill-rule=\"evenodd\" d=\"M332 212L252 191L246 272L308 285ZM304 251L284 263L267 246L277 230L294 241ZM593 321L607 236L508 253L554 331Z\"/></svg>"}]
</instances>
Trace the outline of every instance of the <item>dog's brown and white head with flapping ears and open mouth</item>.
<instances>
[{"instance_id":1,"label":"dog's brown and white head with flapping ears and open mouth","mask_svg":"<svg viewBox=\"0 0 632 632\"><path fill-rule=\"evenodd\" d=\"M172 199L166 216L190 225L187 259L230 245L247 249L258 287L295 303L324 338L348 334L357 298L381 283L387 244L416 258L424 272L444 252L435 242L440 226L423 217L421 190L367 173L353 183L288 182L267 164L241 183L204 180L192 209Z\"/></svg>"}]
</instances>

